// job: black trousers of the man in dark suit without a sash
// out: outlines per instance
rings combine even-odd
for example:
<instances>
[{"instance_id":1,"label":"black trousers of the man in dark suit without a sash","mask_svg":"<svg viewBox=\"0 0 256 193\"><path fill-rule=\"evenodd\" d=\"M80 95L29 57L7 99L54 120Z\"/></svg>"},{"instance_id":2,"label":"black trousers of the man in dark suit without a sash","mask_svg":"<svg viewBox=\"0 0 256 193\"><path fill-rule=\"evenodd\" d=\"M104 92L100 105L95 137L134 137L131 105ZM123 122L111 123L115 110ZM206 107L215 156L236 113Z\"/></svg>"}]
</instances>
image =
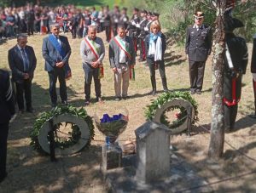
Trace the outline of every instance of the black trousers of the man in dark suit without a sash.
<instances>
[{"instance_id":1,"label":"black trousers of the man in dark suit without a sash","mask_svg":"<svg viewBox=\"0 0 256 193\"><path fill-rule=\"evenodd\" d=\"M19 110L24 110L24 96L26 99L26 110L32 109L32 80L26 79L22 83L15 82L16 99Z\"/></svg>"}]
</instances>

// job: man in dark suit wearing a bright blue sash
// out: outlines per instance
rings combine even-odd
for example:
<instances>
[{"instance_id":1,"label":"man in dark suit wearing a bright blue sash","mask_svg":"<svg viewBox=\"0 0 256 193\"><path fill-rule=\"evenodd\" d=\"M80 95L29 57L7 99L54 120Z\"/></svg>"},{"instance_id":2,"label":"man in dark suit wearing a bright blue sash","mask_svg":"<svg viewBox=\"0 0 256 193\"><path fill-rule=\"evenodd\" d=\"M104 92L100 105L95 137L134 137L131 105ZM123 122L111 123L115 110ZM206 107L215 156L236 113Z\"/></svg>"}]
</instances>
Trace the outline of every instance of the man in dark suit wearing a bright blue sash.
<instances>
[{"instance_id":1,"label":"man in dark suit wearing a bright blue sash","mask_svg":"<svg viewBox=\"0 0 256 193\"><path fill-rule=\"evenodd\" d=\"M71 54L67 37L59 36L60 26L50 26L51 34L44 38L42 53L45 60L44 70L49 75L49 95L52 107L57 105L56 81L60 82L62 104L67 104L67 86L65 81L65 67Z\"/></svg>"}]
</instances>

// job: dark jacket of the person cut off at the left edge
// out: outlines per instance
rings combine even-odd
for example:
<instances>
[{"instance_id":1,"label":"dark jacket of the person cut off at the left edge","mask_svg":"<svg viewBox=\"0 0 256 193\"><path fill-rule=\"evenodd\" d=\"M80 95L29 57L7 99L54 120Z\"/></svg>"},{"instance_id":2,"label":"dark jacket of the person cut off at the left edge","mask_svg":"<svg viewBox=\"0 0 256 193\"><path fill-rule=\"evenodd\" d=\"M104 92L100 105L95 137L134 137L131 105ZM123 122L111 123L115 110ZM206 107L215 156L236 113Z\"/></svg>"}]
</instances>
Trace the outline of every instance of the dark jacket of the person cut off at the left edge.
<instances>
[{"instance_id":1,"label":"dark jacket of the person cut off at the left edge","mask_svg":"<svg viewBox=\"0 0 256 193\"><path fill-rule=\"evenodd\" d=\"M15 102L8 71L0 70L0 123L9 122L15 115ZM1 128L0 128L1 130Z\"/></svg>"}]
</instances>

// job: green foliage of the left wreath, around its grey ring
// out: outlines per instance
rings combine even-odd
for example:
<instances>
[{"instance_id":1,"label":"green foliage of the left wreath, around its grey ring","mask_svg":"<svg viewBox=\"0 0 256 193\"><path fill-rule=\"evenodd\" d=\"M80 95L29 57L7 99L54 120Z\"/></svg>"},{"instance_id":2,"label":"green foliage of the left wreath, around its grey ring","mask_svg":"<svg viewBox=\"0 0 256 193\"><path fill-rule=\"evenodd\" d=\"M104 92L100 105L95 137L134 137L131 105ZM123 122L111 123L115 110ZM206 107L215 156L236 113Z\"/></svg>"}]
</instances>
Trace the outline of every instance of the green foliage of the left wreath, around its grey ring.
<instances>
[{"instance_id":1,"label":"green foliage of the left wreath, around its grey ring","mask_svg":"<svg viewBox=\"0 0 256 193\"><path fill-rule=\"evenodd\" d=\"M88 116L85 109L83 107L80 109L77 109L72 105L58 105L51 111L45 111L44 113L42 113L40 116L38 116L36 122L34 123L32 131L30 133L30 138L31 138L30 145L35 150L43 151L41 146L39 145L38 136L40 133L40 129L43 127L44 123L48 122L49 119L53 118L54 116L60 116L62 114L69 114L69 115L77 116L79 118L84 119L84 121L88 124L88 128L90 131L90 139L88 139L88 143L85 146L90 145L91 140L94 139L95 132L94 132L94 125L92 122L92 118ZM69 137L66 140L61 140L55 137L55 147L65 149L67 147L70 147L78 143L81 137L81 132L79 130L79 127L73 122L66 122L66 126L67 126L67 123L71 124L72 132L68 133ZM55 125L55 129L59 128L60 126L61 126L61 122Z\"/></svg>"}]
</instances>

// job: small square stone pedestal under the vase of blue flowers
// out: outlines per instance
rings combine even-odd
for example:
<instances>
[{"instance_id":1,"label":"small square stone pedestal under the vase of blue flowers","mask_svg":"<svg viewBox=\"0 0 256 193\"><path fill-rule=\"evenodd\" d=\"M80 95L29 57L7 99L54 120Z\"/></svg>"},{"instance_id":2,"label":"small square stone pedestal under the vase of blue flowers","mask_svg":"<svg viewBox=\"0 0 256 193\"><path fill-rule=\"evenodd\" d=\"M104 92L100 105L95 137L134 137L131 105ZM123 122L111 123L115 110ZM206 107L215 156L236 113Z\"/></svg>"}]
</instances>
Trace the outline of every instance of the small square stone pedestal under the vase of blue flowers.
<instances>
[{"instance_id":1,"label":"small square stone pedestal under the vase of blue flowers","mask_svg":"<svg viewBox=\"0 0 256 193\"><path fill-rule=\"evenodd\" d=\"M122 149L119 145L103 145L102 146L102 172L121 167L122 165Z\"/></svg>"}]
</instances>

